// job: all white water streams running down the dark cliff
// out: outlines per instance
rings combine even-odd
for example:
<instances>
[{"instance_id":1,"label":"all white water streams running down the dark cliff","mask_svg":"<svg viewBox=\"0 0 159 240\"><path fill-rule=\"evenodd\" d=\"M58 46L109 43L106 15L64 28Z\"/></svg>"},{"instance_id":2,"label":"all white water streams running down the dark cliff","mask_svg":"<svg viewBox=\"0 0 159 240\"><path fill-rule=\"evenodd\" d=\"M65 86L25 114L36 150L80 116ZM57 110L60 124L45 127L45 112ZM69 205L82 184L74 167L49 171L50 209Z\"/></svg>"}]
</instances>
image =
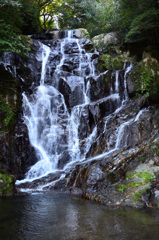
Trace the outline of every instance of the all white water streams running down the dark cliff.
<instances>
[{"instance_id":1,"label":"all white water streams running down the dark cliff","mask_svg":"<svg viewBox=\"0 0 159 240\"><path fill-rule=\"evenodd\" d=\"M58 91L58 80L60 78L62 66L68 57L65 53L65 45L70 42L76 42L79 50L79 66L78 66L78 80L68 80L69 86L73 91L76 86L82 86L83 96L82 104L74 106L71 113L69 113L65 99L63 95ZM36 150L38 162L30 168L26 174L26 178L22 181L17 181L17 184L27 181L33 181L42 176L46 176L48 173L59 171L58 163L62 154L65 155L67 151L70 155L70 161L63 168L67 170L72 165L83 162L92 161L94 159L100 159L109 155L117 150L120 146L122 139L122 132L124 127L128 123L121 125L117 131L117 140L114 149L108 149L107 152L102 153L93 158L86 159L86 155L90 150L93 141L97 137L97 126L94 127L92 132L84 139L83 151L81 152L81 140L79 139L80 117L85 106L93 105L94 102L90 102L89 88L90 82L85 84L82 66L87 64L89 67L89 76L93 76L96 79L96 71L93 61L91 61L92 54L86 53L80 46L80 40L73 39L73 31L68 31L68 36L61 40L60 53L61 60L56 67L52 84L45 84L45 78L47 71L49 70L48 62L52 49L46 45L41 45L41 58L42 58L42 70L40 85L32 96L27 96L23 93L23 112L24 122L27 125L29 132L30 143ZM116 72L115 87L111 86L111 95L103 99L98 100L96 103L104 102L106 100L117 101L117 109L114 113L121 110L128 99L126 78L127 74L131 71L132 65L125 69L124 76L124 98L121 100L119 94L119 72ZM105 72L106 73L106 72ZM87 76L87 77L89 77ZM64 79L65 80L65 79ZM107 130L107 123L111 115L106 118L105 128ZM134 120L130 120L134 121ZM65 136L65 137L64 137ZM65 140L63 140L65 139ZM62 175L63 176L63 175ZM60 177L61 179L61 177ZM41 189L41 188L40 188Z\"/></svg>"}]
</instances>

